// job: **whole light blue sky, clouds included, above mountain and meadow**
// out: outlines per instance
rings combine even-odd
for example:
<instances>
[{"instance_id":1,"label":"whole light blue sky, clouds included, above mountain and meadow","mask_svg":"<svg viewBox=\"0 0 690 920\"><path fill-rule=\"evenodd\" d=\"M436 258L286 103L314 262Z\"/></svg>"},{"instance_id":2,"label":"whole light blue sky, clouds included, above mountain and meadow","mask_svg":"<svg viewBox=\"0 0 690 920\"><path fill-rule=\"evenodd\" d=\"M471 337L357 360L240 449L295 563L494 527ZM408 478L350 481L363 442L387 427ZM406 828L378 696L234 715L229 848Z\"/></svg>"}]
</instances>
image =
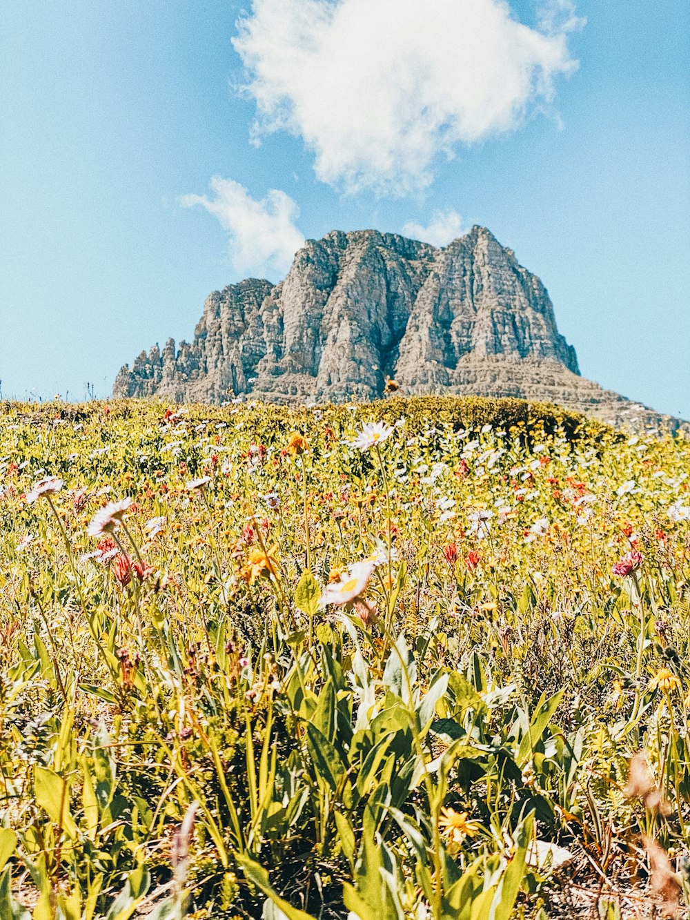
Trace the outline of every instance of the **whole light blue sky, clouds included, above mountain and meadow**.
<instances>
[{"instance_id":1,"label":"whole light blue sky, clouds included, above mountain and meadow","mask_svg":"<svg viewBox=\"0 0 690 920\"><path fill-rule=\"evenodd\" d=\"M484 224L546 283L582 374L690 418L688 6L550 10L6 5L3 395L107 395L303 237Z\"/></svg>"}]
</instances>

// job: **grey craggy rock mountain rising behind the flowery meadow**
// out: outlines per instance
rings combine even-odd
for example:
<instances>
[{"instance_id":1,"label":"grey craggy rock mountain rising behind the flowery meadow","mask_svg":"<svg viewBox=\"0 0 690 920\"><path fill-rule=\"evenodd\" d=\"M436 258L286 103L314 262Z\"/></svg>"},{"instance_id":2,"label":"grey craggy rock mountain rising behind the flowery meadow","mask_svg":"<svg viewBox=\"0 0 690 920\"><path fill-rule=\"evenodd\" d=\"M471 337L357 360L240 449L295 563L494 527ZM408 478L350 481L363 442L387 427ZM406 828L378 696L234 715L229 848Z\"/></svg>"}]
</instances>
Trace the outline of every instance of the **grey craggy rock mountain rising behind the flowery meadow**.
<instances>
[{"instance_id":1,"label":"grey craggy rock mountain rising behind the flowery meadow","mask_svg":"<svg viewBox=\"0 0 690 920\"><path fill-rule=\"evenodd\" d=\"M475 226L444 248L374 230L308 240L280 284L212 293L191 343L123 367L116 397L345 402L405 394L559 403L632 428L675 430L580 376L546 288Z\"/></svg>"}]
</instances>

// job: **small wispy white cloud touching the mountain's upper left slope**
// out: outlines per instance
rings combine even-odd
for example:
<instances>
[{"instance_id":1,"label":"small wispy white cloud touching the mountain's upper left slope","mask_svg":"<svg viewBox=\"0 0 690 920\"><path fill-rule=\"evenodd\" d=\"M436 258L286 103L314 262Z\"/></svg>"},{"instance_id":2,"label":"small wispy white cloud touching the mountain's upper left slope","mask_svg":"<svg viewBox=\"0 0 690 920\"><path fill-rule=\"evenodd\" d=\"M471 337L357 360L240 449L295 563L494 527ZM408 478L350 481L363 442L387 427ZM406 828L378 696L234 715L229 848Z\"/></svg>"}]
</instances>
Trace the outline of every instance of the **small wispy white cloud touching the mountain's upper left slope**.
<instances>
[{"instance_id":1,"label":"small wispy white cloud touching the mountain's upper left slope","mask_svg":"<svg viewBox=\"0 0 690 920\"><path fill-rule=\"evenodd\" d=\"M211 179L211 189L212 199L184 195L180 202L188 208L201 204L218 218L230 236L228 252L238 275L282 278L305 242L295 224L300 213L296 202L277 189L256 201L239 182L220 176Z\"/></svg>"}]
</instances>

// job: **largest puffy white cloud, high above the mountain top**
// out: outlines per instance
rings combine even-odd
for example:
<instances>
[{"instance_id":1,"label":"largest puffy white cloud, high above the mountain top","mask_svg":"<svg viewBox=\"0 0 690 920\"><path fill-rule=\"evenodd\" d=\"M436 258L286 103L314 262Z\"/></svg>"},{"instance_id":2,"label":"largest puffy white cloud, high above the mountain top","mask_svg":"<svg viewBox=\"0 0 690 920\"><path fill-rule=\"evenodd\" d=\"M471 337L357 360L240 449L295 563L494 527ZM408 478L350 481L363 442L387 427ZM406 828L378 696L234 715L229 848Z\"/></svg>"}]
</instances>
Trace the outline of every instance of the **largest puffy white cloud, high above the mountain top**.
<instances>
[{"instance_id":1,"label":"largest puffy white cloud, high above the mountain top","mask_svg":"<svg viewBox=\"0 0 690 920\"><path fill-rule=\"evenodd\" d=\"M550 102L579 25L570 0L539 29L506 0L253 0L234 45L258 133L301 135L324 182L405 194L437 155Z\"/></svg>"}]
</instances>

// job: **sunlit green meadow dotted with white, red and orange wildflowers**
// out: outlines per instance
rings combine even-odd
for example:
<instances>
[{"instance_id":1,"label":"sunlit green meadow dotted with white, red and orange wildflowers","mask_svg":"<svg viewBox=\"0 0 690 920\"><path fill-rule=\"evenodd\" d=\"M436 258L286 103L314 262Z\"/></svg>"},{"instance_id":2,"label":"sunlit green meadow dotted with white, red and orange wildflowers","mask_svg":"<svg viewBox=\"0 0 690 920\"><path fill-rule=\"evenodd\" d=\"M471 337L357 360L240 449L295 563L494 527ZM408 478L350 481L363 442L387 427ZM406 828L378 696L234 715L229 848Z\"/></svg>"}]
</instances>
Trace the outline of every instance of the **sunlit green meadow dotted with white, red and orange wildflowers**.
<instances>
[{"instance_id":1,"label":"sunlit green meadow dotted with white, red and orange wildflowers","mask_svg":"<svg viewBox=\"0 0 690 920\"><path fill-rule=\"evenodd\" d=\"M686 916L690 442L0 404L2 920Z\"/></svg>"}]
</instances>

